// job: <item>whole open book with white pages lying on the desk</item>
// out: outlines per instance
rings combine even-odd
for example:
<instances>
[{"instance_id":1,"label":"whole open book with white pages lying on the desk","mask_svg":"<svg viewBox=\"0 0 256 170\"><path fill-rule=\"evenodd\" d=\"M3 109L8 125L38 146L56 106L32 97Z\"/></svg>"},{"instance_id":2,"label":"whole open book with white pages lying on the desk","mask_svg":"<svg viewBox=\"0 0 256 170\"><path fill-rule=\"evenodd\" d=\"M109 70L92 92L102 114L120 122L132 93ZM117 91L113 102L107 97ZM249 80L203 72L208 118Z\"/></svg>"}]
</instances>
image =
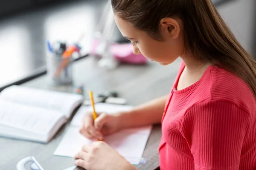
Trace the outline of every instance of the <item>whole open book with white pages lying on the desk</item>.
<instances>
[{"instance_id":1,"label":"whole open book with white pages lying on the desk","mask_svg":"<svg viewBox=\"0 0 256 170\"><path fill-rule=\"evenodd\" d=\"M47 143L83 96L11 86L0 93L0 136Z\"/></svg>"}]
</instances>

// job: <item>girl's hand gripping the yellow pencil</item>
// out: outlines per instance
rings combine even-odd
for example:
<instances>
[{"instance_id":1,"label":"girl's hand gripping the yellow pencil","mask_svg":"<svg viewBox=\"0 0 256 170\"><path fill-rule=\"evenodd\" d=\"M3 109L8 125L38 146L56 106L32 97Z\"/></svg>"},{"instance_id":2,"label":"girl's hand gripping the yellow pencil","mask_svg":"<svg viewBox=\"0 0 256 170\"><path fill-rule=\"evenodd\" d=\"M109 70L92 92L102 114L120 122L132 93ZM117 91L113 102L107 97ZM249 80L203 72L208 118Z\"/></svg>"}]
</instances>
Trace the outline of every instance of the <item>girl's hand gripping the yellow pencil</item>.
<instances>
[{"instance_id":1,"label":"girl's hand gripping the yellow pencil","mask_svg":"<svg viewBox=\"0 0 256 170\"><path fill-rule=\"evenodd\" d=\"M93 114L91 112L87 112L84 115L79 132L90 140L103 140L103 135L111 134L120 130L120 120L118 115L119 114L110 115L100 113L94 121Z\"/></svg>"}]
</instances>

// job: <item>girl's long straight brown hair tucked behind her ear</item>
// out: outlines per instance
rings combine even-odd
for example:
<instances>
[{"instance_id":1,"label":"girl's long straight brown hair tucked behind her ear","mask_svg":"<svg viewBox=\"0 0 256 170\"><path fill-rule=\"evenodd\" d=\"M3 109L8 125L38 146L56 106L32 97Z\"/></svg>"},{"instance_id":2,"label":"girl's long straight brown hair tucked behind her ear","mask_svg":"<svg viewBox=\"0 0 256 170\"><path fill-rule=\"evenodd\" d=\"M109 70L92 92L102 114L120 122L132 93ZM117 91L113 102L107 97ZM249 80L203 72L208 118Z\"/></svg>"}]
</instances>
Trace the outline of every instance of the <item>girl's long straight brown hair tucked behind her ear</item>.
<instances>
[{"instance_id":1,"label":"girl's long straight brown hair tucked behind her ear","mask_svg":"<svg viewBox=\"0 0 256 170\"><path fill-rule=\"evenodd\" d=\"M160 20L183 21L185 49L196 60L243 79L256 96L256 62L236 40L211 0L112 0L114 14L161 40Z\"/></svg>"}]
</instances>

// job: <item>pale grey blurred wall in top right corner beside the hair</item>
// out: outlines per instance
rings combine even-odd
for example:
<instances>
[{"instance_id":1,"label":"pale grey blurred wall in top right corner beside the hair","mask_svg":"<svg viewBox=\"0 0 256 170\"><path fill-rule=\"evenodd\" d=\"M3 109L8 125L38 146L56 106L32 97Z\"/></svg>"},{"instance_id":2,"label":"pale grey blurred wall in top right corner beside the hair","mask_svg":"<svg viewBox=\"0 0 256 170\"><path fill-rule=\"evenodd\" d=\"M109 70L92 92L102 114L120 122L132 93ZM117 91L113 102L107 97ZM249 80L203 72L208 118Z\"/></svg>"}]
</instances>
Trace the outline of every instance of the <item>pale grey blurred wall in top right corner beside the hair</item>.
<instances>
[{"instance_id":1,"label":"pale grey blurred wall in top right corner beside the hair","mask_svg":"<svg viewBox=\"0 0 256 170\"><path fill-rule=\"evenodd\" d=\"M241 45L256 57L256 0L234 0L217 8Z\"/></svg>"}]
</instances>

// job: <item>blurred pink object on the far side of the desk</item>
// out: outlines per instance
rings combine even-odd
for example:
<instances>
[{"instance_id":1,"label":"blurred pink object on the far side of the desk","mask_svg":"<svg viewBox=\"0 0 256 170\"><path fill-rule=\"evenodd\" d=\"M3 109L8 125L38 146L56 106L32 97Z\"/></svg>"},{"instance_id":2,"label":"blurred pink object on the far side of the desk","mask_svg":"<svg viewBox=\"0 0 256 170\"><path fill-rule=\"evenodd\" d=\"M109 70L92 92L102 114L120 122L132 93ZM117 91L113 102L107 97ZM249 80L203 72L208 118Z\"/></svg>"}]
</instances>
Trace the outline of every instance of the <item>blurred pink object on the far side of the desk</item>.
<instances>
[{"instance_id":1,"label":"blurred pink object on the far side of the desk","mask_svg":"<svg viewBox=\"0 0 256 170\"><path fill-rule=\"evenodd\" d=\"M96 48L99 45L99 41L95 40L93 42L93 48L91 54L96 55ZM135 55L132 51L131 44L112 44L110 46L110 52L115 59L122 63L129 64L145 64L148 59L142 54Z\"/></svg>"}]
</instances>

